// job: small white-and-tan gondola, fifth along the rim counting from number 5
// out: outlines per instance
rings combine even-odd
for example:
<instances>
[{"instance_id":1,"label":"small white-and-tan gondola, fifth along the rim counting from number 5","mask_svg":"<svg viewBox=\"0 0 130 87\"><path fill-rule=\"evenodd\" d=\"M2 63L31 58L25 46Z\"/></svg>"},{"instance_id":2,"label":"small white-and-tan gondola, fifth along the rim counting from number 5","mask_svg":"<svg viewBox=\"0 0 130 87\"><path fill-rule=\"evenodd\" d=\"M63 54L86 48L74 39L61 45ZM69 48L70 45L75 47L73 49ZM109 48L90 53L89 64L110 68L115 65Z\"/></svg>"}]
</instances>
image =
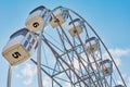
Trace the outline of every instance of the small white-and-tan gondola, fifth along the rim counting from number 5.
<instances>
[{"instance_id":1,"label":"small white-and-tan gondola, fifth along the rim counting from number 5","mask_svg":"<svg viewBox=\"0 0 130 87\"><path fill-rule=\"evenodd\" d=\"M96 37L91 37L86 40L87 52L94 53L100 48L100 42Z\"/></svg>"}]
</instances>

